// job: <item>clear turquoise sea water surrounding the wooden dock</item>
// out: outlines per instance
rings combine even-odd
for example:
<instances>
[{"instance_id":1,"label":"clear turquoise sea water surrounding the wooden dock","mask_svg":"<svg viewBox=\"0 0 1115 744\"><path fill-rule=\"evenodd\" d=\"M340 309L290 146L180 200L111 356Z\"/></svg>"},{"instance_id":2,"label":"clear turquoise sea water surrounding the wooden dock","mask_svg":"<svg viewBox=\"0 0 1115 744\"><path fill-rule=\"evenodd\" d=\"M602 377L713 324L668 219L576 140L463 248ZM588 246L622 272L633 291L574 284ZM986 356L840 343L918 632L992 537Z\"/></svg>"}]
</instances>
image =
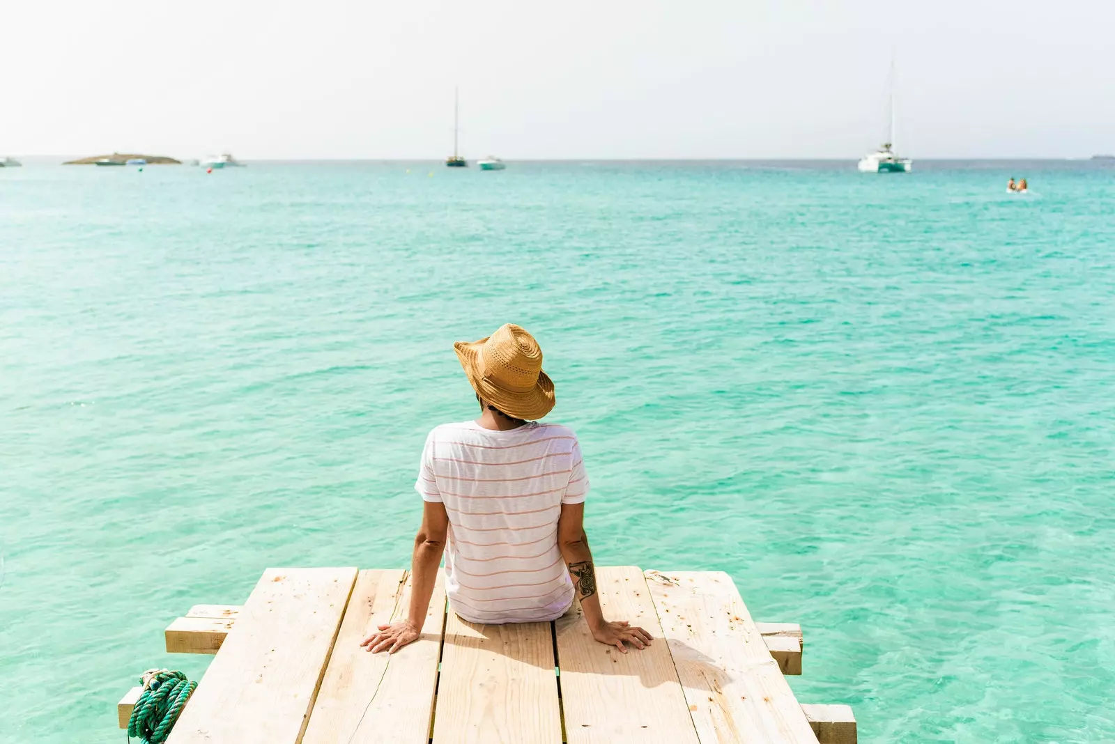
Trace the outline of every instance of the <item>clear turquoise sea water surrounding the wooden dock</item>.
<instances>
[{"instance_id":1,"label":"clear turquoise sea water surrounding the wooden dock","mask_svg":"<svg viewBox=\"0 0 1115 744\"><path fill-rule=\"evenodd\" d=\"M863 742L1115 740L1115 168L918 166L0 170L0 741L122 741L268 566L406 565L504 322L598 562L729 571Z\"/></svg>"}]
</instances>

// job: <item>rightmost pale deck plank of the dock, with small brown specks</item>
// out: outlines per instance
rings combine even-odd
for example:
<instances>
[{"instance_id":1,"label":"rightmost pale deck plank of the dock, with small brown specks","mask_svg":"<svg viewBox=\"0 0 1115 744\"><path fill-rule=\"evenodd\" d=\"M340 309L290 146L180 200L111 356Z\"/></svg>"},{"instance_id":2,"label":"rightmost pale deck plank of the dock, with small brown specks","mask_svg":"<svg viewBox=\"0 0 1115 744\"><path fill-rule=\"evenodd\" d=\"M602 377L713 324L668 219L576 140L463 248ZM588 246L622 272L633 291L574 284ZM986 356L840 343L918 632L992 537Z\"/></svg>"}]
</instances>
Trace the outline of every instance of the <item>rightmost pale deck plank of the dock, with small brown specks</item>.
<instances>
[{"instance_id":1,"label":"rightmost pale deck plank of the dock, with small brown specks","mask_svg":"<svg viewBox=\"0 0 1115 744\"><path fill-rule=\"evenodd\" d=\"M648 583L702 744L816 744L731 577L649 571Z\"/></svg>"}]
</instances>

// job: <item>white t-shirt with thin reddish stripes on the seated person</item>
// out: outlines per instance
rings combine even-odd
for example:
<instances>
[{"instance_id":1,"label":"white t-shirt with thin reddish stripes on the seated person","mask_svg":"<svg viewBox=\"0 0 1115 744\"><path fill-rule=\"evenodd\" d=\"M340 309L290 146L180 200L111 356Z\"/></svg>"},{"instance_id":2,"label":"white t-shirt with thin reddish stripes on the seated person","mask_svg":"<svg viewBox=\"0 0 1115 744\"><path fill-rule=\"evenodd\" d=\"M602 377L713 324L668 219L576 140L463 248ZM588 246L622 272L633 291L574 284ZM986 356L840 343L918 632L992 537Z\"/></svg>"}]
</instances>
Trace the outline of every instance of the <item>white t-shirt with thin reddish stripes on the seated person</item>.
<instances>
[{"instance_id":1,"label":"white t-shirt with thin reddish stripes on the seated person","mask_svg":"<svg viewBox=\"0 0 1115 744\"><path fill-rule=\"evenodd\" d=\"M472 623L534 623L560 617L573 583L558 549L562 503L589 492L572 431L529 422L492 431L476 422L429 432L415 489L445 503L449 607Z\"/></svg>"}]
</instances>

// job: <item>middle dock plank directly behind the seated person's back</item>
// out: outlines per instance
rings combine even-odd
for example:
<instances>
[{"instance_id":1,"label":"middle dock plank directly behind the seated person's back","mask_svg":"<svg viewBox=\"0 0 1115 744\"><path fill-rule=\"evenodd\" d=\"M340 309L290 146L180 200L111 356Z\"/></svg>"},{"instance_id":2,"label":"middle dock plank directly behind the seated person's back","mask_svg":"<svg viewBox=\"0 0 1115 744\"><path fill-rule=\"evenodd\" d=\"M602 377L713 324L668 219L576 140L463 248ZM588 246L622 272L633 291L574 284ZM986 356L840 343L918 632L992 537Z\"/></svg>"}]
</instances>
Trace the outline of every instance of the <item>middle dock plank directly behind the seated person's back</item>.
<instances>
[{"instance_id":1,"label":"middle dock plank directly behind the seated person's back","mask_svg":"<svg viewBox=\"0 0 1115 744\"><path fill-rule=\"evenodd\" d=\"M434 744L561 744L550 623L445 620Z\"/></svg>"}]
</instances>

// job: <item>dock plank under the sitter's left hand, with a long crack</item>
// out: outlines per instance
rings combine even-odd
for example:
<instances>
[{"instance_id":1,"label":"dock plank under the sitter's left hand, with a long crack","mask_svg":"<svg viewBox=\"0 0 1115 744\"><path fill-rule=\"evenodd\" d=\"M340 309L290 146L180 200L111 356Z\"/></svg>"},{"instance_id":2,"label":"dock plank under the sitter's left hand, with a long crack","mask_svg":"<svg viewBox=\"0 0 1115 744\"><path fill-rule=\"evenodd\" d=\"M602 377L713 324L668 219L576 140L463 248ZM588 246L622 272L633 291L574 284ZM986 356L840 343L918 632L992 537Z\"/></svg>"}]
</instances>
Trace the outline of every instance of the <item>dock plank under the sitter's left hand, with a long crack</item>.
<instances>
[{"instance_id":1,"label":"dock plank under the sitter's left hand, with a long crack","mask_svg":"<svg viewBox=\"0 0 1115 744\"><path fill-rule=\"evenodd\" d=\"M360 571L302 744L426 744L445 624L440 571L418 640L394 655L360 647L377 626L406 618L410 589L409 571Z\"/></svg>"}]
</instances>

